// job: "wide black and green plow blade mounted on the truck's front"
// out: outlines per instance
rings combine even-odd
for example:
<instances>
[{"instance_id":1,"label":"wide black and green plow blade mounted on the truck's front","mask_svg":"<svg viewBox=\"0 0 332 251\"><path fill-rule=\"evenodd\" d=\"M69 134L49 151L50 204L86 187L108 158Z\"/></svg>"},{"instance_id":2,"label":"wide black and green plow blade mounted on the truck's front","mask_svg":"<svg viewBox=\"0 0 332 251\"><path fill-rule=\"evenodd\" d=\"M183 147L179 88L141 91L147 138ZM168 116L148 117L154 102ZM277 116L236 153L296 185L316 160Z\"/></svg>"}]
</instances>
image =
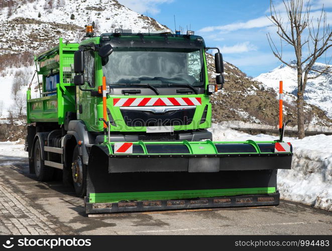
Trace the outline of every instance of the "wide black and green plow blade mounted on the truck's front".
<instances>
[{"instance_id":1,"label":"wide black and green plow blade mounted on the truck's front","mask_svg":"<svg viewBox=\"0 0 332 251\"><path fill-rule=\"evenodd\" d=\"M129 144L91 147L86 213L278 205L277 169L291 167L289 143Z\"/></svg>"}]
</instances>

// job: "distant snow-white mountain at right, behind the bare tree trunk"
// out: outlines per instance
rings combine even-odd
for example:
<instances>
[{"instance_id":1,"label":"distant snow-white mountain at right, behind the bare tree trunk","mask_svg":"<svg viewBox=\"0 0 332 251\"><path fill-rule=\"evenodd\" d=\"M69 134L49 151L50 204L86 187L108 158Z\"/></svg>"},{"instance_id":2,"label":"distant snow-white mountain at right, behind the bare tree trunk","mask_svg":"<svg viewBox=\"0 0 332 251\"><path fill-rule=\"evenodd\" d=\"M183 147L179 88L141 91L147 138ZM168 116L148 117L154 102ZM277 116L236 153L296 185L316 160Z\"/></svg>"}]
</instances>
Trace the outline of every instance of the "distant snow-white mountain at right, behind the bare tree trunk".
<instances>
[{"instance_id":1,"label":"distant snow-white mountain at right, behind the bare tree trunk","mask_svg":"<svg viewBox=\"0 0 332 251\"><path fill-rule=\"evenodd\" d=\"M322 63L315 63L313 67L314 70L321 71L325 66ZM311 71L309 72L309 77L317 74L317 72ZM254 80L262 82L267 87L272 87L277 93L279 92L279 81L282 80L286 100L296 100L296 69L282 64L268 73L259 75ZM316 105L324 110L326 115L332 118L332 73L322 74L316 79L309 79L305 88L304 99L307 103Z\"/></svg>"}]
</instances>

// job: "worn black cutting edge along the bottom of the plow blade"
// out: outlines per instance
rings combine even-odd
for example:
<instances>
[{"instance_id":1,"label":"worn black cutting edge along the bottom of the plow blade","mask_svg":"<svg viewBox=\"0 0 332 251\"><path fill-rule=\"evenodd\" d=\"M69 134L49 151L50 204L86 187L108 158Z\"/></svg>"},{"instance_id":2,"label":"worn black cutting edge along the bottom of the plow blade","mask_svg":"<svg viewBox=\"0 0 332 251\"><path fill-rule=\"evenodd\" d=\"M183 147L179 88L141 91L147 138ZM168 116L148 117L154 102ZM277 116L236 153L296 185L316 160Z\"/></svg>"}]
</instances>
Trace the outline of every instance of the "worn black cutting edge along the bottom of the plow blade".
<instances>
[{"instance_id":1,"label":"worn black cutting edge along the bottom of the plow blade","mask_svg":"<svg viewBox=\"0 0 332 251\"><path fill-rule=\"evenodd\" d=\"M279 205L279 197L279 191L269 194L237 195L178 200L121 201L115 203L89 203L89 198L85 197L84 204L85 212L89 214L213 207L276 206Z\"/></svg>"}]
</instances>

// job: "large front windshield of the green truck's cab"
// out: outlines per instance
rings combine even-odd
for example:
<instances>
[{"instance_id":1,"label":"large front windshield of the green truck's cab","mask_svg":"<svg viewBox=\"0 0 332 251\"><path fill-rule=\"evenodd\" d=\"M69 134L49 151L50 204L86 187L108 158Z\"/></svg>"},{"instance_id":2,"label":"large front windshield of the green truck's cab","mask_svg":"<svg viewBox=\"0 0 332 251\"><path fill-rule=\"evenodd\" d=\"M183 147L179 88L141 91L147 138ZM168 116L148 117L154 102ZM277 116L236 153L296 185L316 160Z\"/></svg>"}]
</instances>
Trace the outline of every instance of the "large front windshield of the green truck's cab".
<instances>
[{"instance_id":1,"label":"large front windshield of the green truck's cab","mask_svg":"<svg viewBox=\"0 0 332 251\"><path fill-rule=\"evenodd\" d=\"M199 49L114 49L102 67L111 85L204 85L203 55Z\"/></svg>"}]
</instances>

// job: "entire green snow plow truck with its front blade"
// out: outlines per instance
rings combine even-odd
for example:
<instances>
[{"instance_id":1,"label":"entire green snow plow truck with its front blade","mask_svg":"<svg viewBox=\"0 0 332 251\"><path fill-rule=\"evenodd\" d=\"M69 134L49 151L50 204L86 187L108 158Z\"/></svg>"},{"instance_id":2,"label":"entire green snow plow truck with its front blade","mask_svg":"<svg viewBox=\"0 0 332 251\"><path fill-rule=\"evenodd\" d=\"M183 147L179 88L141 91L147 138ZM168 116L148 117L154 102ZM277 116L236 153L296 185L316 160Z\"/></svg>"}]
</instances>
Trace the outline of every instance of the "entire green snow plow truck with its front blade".
<instances>
[{"instance_id":1,"label":"entire green snow plow truck with its front blade","mask_svg":"<svg viewBox=\"0 0 332 251\"><path fill-rule=\"evenodd\" d=\"M27 91L30 172L62 174L86 213L278 205L277 170L292 147L213 142L202 37L170 31L93 36L35 56L40 97ZM223 109L223 107L220 107Z\"/></svg>"}]
</instances>

